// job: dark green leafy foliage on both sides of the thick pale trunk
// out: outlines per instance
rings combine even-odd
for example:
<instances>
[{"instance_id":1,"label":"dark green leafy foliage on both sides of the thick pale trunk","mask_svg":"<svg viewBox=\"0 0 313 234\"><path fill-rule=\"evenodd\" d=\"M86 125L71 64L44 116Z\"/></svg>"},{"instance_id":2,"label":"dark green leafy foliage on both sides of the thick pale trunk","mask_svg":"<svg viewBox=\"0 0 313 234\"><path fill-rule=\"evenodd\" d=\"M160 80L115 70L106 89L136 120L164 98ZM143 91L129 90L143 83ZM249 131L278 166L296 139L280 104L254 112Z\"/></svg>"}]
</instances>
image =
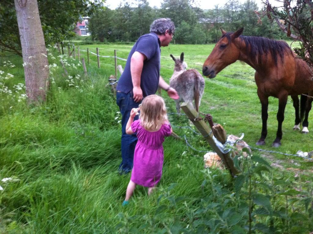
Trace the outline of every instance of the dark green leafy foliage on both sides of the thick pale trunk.
<instances>
[{"instance_id":1,"label":"dark green leafy foliage on both sides of the thick pale trunk","mask_svg":"<svg viewBox=\"0 0 313 234\"><path fill-rule=\"evenodd\" d=\"M80 17L90 14L101 4L100 0L38 0L46 44L74 36L74 27ZM14 1L0 2L0 50L22 56Z\"/></svg>"}]
</instances>

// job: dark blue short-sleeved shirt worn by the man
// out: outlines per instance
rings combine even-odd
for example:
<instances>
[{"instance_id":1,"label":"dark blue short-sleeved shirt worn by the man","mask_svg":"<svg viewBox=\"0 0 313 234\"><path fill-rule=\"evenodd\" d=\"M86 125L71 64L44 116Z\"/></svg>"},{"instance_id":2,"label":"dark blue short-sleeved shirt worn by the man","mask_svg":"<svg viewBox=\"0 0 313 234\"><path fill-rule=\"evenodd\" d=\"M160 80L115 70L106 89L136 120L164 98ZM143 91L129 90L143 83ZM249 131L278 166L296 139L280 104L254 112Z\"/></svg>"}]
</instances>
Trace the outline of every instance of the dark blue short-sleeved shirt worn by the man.
<instances>
[{"instance_id":1,"label":"dark blue short-sleeved shirt worn by the man","mask_svg":"<svg viewBox=\"0 0 313 234\"><path fill-rule=\"evenodd\" d=\"M160 60L161 60L161 42L155 33L149 33L141 36L134 44L128 55L125 69L118 80L116 90L128 93L133 90L131 81L131 56L135 51L146 55L147 59L143 62L140 87L144 97L155 94L160 79Z\"/></svg>"}]
</instances>

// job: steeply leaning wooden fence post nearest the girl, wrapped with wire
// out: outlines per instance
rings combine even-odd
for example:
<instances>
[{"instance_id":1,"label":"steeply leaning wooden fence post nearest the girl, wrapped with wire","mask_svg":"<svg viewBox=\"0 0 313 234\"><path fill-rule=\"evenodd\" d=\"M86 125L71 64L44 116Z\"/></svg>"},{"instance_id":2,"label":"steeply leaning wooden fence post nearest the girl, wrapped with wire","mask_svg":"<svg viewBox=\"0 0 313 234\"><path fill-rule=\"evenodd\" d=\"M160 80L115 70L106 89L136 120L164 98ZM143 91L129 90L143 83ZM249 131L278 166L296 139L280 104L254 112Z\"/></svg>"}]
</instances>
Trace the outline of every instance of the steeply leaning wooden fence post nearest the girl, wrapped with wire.
<instances>
[{"instance_id":1,"label":"steeply leaning wooden fence post nearest the girl, wrapped with wire","mask_svg":"<svg viewBox=\"0 0 313 234\"><path fill-rule=\"evenodd\" d=\"M218 146L215 144L213 138L209 135L211 130L204 122L204 120L197 120L198 117L198 112L193 108L191 102L183 102L182 105L182 110L186 113L188 118L192 121L192 123L198 128L200 133L203 135L203 137L207 140L207 142L210 144L210 146L213 148L213 150L218 154L218 156L223 160L224 165L226 168L229 170L230 174L234 177L236 176L239 172L235 168L233 164L233 159L230 156L229 153L223 153Z\"/></svg>"}]
</instances>

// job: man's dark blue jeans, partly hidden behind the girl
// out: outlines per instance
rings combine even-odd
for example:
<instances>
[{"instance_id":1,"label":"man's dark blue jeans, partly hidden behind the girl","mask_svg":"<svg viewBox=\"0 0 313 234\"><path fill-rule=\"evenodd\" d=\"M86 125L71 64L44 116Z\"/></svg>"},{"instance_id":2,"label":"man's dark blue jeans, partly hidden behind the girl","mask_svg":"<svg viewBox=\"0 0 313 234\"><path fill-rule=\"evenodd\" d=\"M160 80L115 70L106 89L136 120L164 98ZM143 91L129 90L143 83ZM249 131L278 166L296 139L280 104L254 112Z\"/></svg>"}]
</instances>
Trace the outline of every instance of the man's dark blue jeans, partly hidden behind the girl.
<instances>
[{"instance_id":1,"label":"man's dark blue jeans, partly hidden behind the girl","mask_svg":"<svg viewBox=\"0 0 313 234\"><path fill-rule=\"evenodd\" d=\"M133 92L130 91L127 94L123 92L116 93L116 104L120 107L122 114L122 137L121 137L121 152L122 162L119 170L122 173L128 173L133 168L134 151L137 143L136 133L128 135L126 133L126 124L128 122L131 109L138 108L140 102L135 102L133 99ZM138 119L138 115L135 116L134 120Z\"/></svg>"}]
</instances>

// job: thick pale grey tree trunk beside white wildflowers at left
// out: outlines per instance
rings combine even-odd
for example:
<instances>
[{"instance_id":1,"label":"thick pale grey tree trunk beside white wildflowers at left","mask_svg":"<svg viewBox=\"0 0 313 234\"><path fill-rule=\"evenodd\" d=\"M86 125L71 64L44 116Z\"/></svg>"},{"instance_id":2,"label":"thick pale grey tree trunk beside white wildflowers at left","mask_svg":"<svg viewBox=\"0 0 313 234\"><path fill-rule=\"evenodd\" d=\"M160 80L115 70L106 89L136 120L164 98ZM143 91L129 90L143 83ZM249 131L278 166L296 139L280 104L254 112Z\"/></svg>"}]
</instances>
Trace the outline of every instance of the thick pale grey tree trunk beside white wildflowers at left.
<instances>
[{"instance_id":1,"label":"thick pale grey tree trunk beside white wildflowers at left","mask_svg":"<svg viewBox=\"0 0 313 234\"><path fill-rule=\"evenodd\" d=\"M46 100L49 66L37 0L14 0L28 103Z\"/></svg>"}]
</instances>

